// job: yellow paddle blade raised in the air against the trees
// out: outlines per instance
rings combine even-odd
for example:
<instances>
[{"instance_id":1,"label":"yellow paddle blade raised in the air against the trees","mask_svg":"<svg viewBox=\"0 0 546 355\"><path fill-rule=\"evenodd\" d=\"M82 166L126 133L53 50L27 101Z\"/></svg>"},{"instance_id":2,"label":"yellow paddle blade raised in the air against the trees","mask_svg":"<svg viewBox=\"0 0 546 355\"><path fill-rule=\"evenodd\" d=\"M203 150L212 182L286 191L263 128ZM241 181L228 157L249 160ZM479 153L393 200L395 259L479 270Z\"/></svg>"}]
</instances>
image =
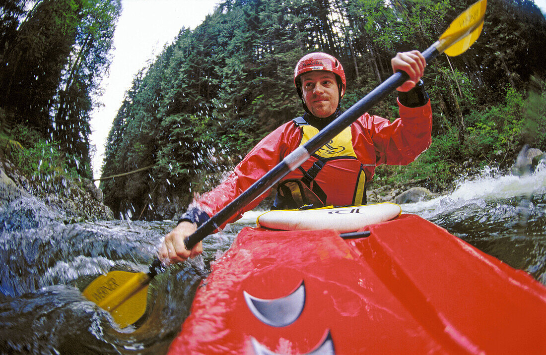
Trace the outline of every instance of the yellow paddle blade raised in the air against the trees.
<instances>
[{"instance_id":1,"label":"yellow paddle blade raised in the air against the trees","mask_svg":"<svg viewBox=\"0 0 546 355\"><path fill-rule=\"evenodd\" d=\"M466 51L482 33L487 0L479 0L457 16L435 45L438 52L450 57Z\"/></svg>"}]
</instances>

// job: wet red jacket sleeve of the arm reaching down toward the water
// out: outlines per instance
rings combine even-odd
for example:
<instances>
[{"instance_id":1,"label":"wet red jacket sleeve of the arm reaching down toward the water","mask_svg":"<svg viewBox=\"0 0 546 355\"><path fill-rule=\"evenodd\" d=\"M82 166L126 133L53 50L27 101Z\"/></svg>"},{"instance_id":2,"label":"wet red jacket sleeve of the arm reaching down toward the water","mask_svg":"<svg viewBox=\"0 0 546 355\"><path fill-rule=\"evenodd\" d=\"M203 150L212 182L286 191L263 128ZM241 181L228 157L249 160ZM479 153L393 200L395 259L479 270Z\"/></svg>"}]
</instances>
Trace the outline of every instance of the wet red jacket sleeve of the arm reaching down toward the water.
<instances>
[{"instance_id":1,"label":"wet red jacket sleeve of the arm reaching down toward the water","mask_svg":"<svg viewBox=\"0 0 546 355\"><path fill-rule=\"evenodd\" d=\"M190 207L197 207L209 216L215 215L224 206L248 189L256 180L275 167L286 155L297 148L301 141L301 129L292 121L281 125L260 141L235 169L215 189L201 195ZM228 223L241 218L269 194L271 189L248 204ZM225 224L224 224L225 225ZM223 226L222 226L223 227Z\"/></svg>"}]
</instances>

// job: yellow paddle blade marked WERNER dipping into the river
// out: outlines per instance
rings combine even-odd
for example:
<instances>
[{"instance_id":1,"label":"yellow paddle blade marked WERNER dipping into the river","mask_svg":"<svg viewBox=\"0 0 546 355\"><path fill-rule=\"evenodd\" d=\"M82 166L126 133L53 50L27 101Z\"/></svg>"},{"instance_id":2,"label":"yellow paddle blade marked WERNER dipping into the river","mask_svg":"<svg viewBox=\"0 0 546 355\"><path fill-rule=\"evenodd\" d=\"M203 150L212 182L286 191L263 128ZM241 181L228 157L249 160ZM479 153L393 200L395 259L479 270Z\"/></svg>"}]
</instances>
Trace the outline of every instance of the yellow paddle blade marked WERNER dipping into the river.
<instances>
[{"instance_id":1,"label":"yellow paddle blade marked WERNER dipping into the river","mask_svg":"<svg viewBox=\"0 0 546 355\"><path fill-rule=\"evenodd\" d=\"M116 323L124 328L144 315L150 280L145 273L111 271L93 280L83 294L109 311Z\"/></svg>"}]
</instances>

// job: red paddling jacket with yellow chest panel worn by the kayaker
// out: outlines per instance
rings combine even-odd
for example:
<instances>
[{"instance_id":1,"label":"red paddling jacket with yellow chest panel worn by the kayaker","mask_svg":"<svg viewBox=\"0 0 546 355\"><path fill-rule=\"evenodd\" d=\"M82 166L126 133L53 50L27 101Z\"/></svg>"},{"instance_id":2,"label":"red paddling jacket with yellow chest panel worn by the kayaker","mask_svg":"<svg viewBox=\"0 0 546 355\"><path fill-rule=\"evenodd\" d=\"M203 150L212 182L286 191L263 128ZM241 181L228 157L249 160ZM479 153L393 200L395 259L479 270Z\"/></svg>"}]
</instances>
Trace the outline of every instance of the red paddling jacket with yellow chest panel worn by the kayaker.
<instances>
[{"instance_id":1,"label":"red paddling jacket with yellow chest panel worn by the kayaker","mask_svg":"<svg viewBox=\"0 0 546 355\"><path fill-rule=\"evenodd\" d=\"M394 122L365 113L313 154L300 169L290 172L276 186L274 208L298 208L316 202L315 197L325 205L364 204L365 183L372 179L376 166L409 164L430 146L430 100L419 107L403 106L400 100L398 105L400 118ZM317 133L318 130L301 117L281 125L260 141L220 185L193 201L180 221L203 224ZM298 200L294 193L298 189L312 191L313 198L303 196ZM274 190L248 204L229 222L256 207Z\"/></svg>"}]
</instances>

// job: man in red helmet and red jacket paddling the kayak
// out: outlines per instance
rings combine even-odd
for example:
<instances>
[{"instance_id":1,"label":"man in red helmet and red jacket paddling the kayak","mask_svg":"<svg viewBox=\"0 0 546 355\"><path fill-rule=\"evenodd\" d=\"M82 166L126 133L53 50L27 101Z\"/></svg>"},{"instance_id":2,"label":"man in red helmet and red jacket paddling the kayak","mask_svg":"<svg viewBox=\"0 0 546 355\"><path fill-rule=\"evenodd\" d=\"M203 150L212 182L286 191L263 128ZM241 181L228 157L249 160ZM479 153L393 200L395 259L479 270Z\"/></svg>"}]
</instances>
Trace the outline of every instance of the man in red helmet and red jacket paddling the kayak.
<instances>
[{"instance_id":1,"label":"man in red helmet and red jacket paddling the kayak","mask_svg":"<svg viewBox=\"0 0 546 355\"><path fill-rule=\"evenodd\" d=\"M272 208L365 204L365 185L376 166L406 165L425 151L431 143L432 128L430 100L420 80L425 66L419 51L397 53L391 59L393 71L403 70L410 75L410 80L397 88L401 118L390 123L365 113L271 189L277 193ZM183 262L200 254L202 244L187 250L184 238L341 114L346 78L335 57L327 53L302 57L294 70L294 84L304 116L266 136L220 185L194 199L159 248L163 262ZM270 192L246 206L241 214L256 207ZM233 216L229 222L240 216Z\"/></svg>"}]
</instances>

